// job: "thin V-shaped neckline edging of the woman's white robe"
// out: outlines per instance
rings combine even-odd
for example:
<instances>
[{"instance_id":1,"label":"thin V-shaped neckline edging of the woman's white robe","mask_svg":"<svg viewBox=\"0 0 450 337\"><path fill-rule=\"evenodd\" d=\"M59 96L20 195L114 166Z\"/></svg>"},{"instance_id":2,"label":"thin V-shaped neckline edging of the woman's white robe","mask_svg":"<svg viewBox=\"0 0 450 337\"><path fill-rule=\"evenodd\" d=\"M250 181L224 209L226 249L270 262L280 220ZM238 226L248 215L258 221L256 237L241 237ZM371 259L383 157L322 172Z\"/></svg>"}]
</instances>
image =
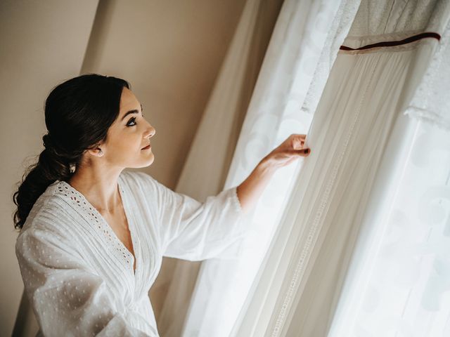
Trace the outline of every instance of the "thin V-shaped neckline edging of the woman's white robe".
<instances>
[{"instance_id":1,"label":"thin V-shaped neckline edging of the woman's white robe","mask_svg":"<svg viewBox=\"0 0 450 337\"><path fill-rule=\"evenodd\" d=\"M122 208L124 209L124 213L125 213L125 218L127 218L128 230L129 230L129 234L131 237L131 245L132 245L134 254L131 253L131 251L129 251L129 249L127 248L127 246L125 246L125 244L122 242L122 240L120 240L119 237L117 237L117 234L115 234L113 228L110 226L108 221L106 221L106 219L101 215L101 213L94 206L92 206L92 204L88 201L88 199L86 199L86 197L84 197L84 194L82 194L82 192L79 192L79 190L77 190L75 187L70 185L68 182L66 182L64 180L60 180L60 181L62 183L65 183L66 185L68 185L68 188L70 188L71 190L74 190L77 194L79 194L79 196L83 199L83 201L86 203L86 205L89 206L89 208L92 211L97 213L98 218L100 218L101 221L103 222L103 225L106 227L106 230L109 232L110 237L113 237L115 242L117 242L117 244L119 244L122 247L122 249L124 249L124 251L126 251L127 254L131 257L131 270L133 271L134 277L136 277L136 271L138 270L138 260L136 258L136 255L137 255L136 235L134 234L134 224L131 221L131 216L130 216L131 213L128 209L129 205L128 205L126 198L124 198L124 190L122 187L121 179L122 179L122 177L119 176L119 178L117 179L117 186L119 188L119 194L120 194L120 199L122 201ZM103 231L101 231L101 232L103 232ZM136 264L136 268L134 267L135 264Z\"/></svg>"}]
</instances>

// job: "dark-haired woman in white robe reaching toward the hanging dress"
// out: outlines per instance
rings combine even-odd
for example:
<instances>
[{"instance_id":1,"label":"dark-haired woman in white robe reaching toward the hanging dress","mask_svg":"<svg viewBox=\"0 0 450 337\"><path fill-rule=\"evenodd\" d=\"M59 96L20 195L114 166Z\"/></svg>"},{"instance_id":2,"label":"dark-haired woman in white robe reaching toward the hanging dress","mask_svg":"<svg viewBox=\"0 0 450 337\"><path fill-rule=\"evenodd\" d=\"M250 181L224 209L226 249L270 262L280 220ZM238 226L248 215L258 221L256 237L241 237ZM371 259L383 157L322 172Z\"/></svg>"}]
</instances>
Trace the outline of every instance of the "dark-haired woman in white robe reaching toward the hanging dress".
<instances>
[{"instance_id":1,"label":"dark-haired woman in white robe reaching toward the hanging dress","mask_svg":"<svg viewBox=\"0 0 450 337\"><path fill-rule=\"evenodd\" d=\"M14 194L15 251L44 336L158 336L148 290L162 256L221 256L271 175L300 156L292 135L237 187L200 203L146 173L155 128L127 81L86 74L51 91L44 151Z\"/></svg>"}]
</instances>

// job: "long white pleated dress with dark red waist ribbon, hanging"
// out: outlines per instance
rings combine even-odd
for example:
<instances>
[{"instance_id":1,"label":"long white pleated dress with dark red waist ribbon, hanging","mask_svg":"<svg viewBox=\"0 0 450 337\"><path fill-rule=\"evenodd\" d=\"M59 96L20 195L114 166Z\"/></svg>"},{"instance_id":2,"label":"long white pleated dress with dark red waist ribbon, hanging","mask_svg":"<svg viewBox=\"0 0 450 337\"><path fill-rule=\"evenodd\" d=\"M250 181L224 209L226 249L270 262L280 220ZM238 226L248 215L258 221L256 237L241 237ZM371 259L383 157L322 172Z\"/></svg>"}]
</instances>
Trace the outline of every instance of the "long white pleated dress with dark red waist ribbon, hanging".
<instances>
[{"instance_id":1,"label":"long white pleated dress with dark red waist ribbon, hanging","mask_svg":"<svg viewBox=\"0 0 450 337\"><path fill-rule=\"evenodd\" d=\"M366 211L383 204L374 182L387 188L402 165L414 131L402 113L428 81L448 15L446 1L361 2L308 131L311 154L233 335L328 335ZM437 112L442 119L422 120L444 124L448 111Z\"/></svg>"}]
</instances>

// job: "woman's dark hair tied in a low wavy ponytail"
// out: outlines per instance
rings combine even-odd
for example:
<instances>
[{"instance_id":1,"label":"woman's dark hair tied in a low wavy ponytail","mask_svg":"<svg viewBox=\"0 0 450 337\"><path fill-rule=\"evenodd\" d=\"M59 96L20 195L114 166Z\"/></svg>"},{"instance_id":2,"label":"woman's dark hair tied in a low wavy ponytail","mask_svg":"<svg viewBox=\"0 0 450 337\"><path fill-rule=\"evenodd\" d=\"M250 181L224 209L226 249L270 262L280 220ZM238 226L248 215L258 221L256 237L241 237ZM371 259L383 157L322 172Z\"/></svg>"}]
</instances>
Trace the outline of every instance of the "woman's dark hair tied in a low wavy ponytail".
<instances>
[{"instance_id":1,"label":"woman's dark hair tied in a low wavy ponytail","mask_svg":"<svg viewBox=\"0 0 450 337\"><path fill-rule=\"evenodd\" d=\"M71 166L78 166L83 153L106 140L108 128L120 110L124 79L99 74L84 74L59 84L45 102L42 137L45 149L36 164L28 167L13 194L14 227L21 229L34 203L56 180L67 181Z\"/></svg>"}]
</instances>

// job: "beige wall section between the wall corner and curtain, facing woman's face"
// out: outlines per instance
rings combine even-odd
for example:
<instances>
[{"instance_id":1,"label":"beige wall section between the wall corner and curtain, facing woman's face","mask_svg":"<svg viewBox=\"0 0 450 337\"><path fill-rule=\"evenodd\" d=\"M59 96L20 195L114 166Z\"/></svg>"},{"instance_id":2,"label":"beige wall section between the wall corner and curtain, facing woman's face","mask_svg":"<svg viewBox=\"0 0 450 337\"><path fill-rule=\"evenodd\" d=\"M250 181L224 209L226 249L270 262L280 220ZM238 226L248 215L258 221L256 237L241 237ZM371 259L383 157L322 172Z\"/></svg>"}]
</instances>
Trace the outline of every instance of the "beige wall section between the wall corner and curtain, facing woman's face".
<instances>
[{"instance_id":1,"label":"beige wall section between the wall corner and curtain, facing woman's face","mask_svg":"<svg viewBox=\"0 0 450 337\"><path fill-rule=\"evenodd\" d=\"M174 188L244 0L100 1L82 72L127 79L156 129L143 169Z\"/></svg>"}]
</instances>

